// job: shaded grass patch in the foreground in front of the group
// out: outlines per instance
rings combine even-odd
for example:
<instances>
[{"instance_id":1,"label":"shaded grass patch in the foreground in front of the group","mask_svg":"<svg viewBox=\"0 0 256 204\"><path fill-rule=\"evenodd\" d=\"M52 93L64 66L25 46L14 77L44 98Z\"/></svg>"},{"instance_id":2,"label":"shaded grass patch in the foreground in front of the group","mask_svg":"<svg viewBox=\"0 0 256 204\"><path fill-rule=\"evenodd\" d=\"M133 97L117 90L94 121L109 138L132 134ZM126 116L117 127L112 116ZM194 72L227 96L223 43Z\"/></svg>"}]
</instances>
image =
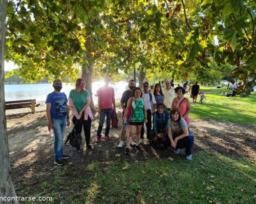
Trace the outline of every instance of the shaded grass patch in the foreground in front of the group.
<instances>
[{"instance_id":1,"label":"shaded grass patch in the foreground in front of the group","mask_svg":"<svg viewBox=\"0 0 256 204\"><path fill-rule=\"evenodd\" d=\"M127 166L128 169L122 170ZM116 160L109 164L93 162L92 172L61 181L57 203L253 203L255 201L255 166L247 160L234 160L208 151L184 156L175 161L152 159L142 163ZM104 170L107 169L107 170ZM59 187L41 196L54 196Z\"/></svg>"}]
</instances>

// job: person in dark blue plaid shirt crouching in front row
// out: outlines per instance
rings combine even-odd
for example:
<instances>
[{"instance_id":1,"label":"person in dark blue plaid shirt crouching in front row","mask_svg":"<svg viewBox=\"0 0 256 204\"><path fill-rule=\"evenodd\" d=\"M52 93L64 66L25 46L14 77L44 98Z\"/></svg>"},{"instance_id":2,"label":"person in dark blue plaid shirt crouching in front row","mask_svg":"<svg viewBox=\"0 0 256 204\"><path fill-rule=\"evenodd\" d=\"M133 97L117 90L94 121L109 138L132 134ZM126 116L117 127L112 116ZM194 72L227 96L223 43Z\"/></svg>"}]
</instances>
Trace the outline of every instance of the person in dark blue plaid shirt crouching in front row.
<instances>
[{"instance_id":1,"label":"person in dark blue plaid shirt crouching in front row","mask_svg":"<svg viewBox=\"0 0 256 204\"><path fill-rule=\"evenodd\" d=\"M167 137L168 121L170 119L169 113L166 111L164 104L157 104L157 111L153 113L154 127L151 131L151 144L157 148L165 147L165 140Z\"/></svg>"}]
</instances>

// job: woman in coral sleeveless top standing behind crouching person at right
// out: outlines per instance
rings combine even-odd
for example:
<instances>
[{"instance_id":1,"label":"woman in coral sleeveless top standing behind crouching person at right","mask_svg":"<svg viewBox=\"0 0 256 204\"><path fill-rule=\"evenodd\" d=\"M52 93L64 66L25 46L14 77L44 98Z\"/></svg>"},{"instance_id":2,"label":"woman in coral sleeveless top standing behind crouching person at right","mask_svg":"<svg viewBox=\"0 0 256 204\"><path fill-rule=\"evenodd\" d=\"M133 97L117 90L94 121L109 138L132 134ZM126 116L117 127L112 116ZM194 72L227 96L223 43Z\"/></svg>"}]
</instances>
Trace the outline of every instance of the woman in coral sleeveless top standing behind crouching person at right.
<instances>
[{"instance_id":1,"label":"woman in coral sleeveless top standing behind crouching person at right","mask_svg":"<svg viewBox=\"0 0 256 204\"><path fill-rule=\"evenodd\" d=\"M184 97L185 90L182 87L176 87L175 93L177 96L173 100L172 110L178 109L181 113L181 116L189 125L188 114L190 112L190 103L188 98Z\"/></svg>"}]
</instances>

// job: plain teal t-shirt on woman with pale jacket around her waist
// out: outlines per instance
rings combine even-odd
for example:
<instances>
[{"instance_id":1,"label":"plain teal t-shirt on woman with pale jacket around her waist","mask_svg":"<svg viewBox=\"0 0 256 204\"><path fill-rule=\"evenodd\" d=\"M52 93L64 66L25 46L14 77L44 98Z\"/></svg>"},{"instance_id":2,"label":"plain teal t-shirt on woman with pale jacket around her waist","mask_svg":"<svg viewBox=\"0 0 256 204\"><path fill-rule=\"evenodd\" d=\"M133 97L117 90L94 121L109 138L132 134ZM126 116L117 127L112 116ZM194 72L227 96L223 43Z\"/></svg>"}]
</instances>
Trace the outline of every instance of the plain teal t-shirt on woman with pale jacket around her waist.
<instances>
[{"instance_id":1,"label":"plain teal t-shirt on woman with pale jacket around her waist","mask_svg":"<svg viewBox=\"0 0 256 204\"><path fill-rule=\"evenodd\" d=\"M69 93L69 98L72 98L73 104L76 107L77 112L79 113L87 103L86 97L90 97L89 91L86 89L84 92L77 92L75 89L72 89Z\"/></svg>"}]
</instances>

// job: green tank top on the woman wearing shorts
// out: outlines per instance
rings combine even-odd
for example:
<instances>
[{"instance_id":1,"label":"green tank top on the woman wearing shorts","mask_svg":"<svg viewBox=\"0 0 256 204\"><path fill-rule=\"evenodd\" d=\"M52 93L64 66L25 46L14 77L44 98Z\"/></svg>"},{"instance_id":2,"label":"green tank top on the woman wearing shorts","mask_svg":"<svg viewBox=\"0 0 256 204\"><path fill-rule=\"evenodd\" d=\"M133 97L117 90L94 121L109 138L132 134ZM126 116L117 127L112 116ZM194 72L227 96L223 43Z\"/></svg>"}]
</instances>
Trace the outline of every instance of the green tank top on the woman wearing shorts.
<instances>
[{"instance_id":1,"label":"green tank top on the woman wearing shorts","mask_svg":"<svg viewBox=\"0 0 256 204\"><path fill-rule=\"evenodd\" d=\"M132 122L144 121L143 99L141 98L140 100L136 100L135 98L133 98L132 107L133 107L133 113L132 113L131 121Z\"/></svg>"}]
</instances>

